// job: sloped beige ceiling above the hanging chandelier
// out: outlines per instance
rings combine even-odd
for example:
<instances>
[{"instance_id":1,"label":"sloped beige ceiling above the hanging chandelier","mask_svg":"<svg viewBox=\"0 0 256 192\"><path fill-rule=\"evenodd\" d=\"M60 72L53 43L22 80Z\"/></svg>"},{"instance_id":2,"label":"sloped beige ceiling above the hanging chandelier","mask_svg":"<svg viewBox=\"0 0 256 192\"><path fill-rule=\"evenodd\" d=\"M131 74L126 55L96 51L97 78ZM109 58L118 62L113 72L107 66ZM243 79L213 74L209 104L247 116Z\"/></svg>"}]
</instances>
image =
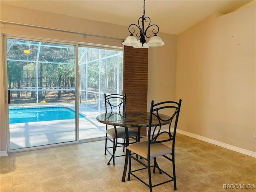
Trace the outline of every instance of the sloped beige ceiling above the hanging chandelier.
<instances>
[{"instance_id":1,"label":"sloped beige ceiling above the hanging chandelier","mask_svg":"<svg viewBox=\"0 0 256 192\"><path fill-rule=\"evenodd\" d=\"M137 24L143 0L1 0L1 4L123 26ZM146 0L145 13L160 32L180 34L214 12L227 14L247 0Z\"/></svg>"}]
</instances>

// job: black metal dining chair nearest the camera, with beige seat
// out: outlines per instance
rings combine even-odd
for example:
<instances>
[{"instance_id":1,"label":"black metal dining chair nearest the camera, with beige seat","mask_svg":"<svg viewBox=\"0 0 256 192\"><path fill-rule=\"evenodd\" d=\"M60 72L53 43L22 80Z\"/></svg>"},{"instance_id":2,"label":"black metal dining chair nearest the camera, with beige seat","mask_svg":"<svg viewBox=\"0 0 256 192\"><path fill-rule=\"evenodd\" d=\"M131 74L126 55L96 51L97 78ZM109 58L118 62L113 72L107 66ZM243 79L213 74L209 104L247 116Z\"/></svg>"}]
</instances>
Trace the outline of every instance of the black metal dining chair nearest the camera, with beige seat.
<instances>
[{"instance_id":1,"label":"black metal dining chair nearest the camera, with beige seat","mask_svg":"<svg viewBox=\"0 0 256 192\"><path fill-rule=\"evenodd\" d=\"M175 175L175 159L174 159L174 146L175 146L175 137L176 137L176 129L178 124L178 117L180 113L180 106L181 100L179 102L174 101L166 101L154 104L154 101L151 102L150 108L150 120L149 120L149 128L148 133L152 133L152 135L148 134L148 140L137 142L134 144L130 144L127 147L129 152L128 156L128 180L130 180L130 176L134 176L140 182L145 184L150 188L150 192L152 192L152 188L155 186L159 186L161 184L165 184L167 182L174 182L174 190L177 190L176 187L176 175ZM166 111L171 111L170 116L162 115L165 114ZM158 120L157 124L152 124L152 119ZM168 129L163 129L163 125L168 122ZM165 145L165 144L166 145ZM170 147L171 146L171 147ZM139 155L142 157L138 159L135 155ZM168 170L169 166L164 161L164 158L161 159L161 163L164 164L164 170L160 168L157 163L158 157L164 157L170 162L172 162L172 173L171 169ZM135 160L136 162L142 164L143 168L138 168L135 166L136 169L132 170L132 161ZM152 164L151 164L152 160ZM133 161L134 162L134 161ZM151 170L153 168L153 171ZM167 168L167 169L166 169ZM143 178L139 178L139 176L144 176L144 174L138 174L140 171L147 169L148 170L148 182L143 180ZM153 174L156 173L156 169L159 171L160 174L164 173L168 176L168 180L166 179L164 182L158 181L157 184L152 184L151 178L151 171ZM172 175L171 175L172 174Z\"/></svg>"}]
</instances>

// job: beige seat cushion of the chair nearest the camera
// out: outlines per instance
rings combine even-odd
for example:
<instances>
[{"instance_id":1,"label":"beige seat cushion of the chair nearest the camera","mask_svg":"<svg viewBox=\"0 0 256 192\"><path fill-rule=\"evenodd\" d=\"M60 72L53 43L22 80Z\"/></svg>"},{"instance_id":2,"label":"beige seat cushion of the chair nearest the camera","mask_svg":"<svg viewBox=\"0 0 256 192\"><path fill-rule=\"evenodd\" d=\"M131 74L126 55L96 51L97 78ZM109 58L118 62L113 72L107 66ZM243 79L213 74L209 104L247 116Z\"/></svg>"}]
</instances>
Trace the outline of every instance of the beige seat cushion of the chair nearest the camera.
<instances>
[{"instance_id":1,"label":"beige seat cushion of the chair nearest the camera","mask_svg":"<svg viewBox=\"0 0 256 192\"><path fill-rule=\"evenodd\" d=\"M137 142L134 144L130 144L127 147L128 150L142 156L144 158L148 158L148 141ZM155 143L150 145L150 158L172 154L172 149L162 143Z\"/></svg>"}]
</instances>

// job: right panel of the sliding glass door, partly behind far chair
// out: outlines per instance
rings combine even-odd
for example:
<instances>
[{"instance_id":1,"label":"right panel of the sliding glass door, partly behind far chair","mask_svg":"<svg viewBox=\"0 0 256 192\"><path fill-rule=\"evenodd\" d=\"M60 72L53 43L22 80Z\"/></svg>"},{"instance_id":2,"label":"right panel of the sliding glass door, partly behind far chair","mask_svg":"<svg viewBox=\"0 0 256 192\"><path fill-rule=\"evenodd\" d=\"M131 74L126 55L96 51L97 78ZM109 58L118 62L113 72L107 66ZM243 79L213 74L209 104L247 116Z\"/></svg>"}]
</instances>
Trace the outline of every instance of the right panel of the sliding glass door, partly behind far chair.
<instances>
[{"instance_id":1,"label":"right panel of the sliding glass door, partly behind far chair","mask_svg":"<svg viewBox=\"0 0 256 192\"><path fill-rule=\"evenodd\" d=\"M122 94L122 48L78 47L79 140L106 136L106 125L96 121L105 112L104 94Z\"/></svg>"}]
</instances>

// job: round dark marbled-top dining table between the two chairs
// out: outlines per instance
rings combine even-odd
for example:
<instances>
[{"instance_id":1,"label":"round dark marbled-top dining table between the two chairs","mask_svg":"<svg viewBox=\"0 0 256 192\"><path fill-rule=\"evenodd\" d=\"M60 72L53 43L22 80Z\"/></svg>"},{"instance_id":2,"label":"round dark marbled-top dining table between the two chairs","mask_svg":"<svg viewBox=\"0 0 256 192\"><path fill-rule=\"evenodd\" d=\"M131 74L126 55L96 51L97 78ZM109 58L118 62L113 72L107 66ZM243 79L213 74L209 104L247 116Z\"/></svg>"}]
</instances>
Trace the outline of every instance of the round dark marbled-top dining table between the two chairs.
<instances>
[{"instance_id":1,"label":"round dark marbled-top dining table between the two chairs","mask_svg":"<svg viewBox=\"0 0 256 192\"><path fill-rule=\"evenodd\" d=\"M168 116L164 114L160 114L163 119L166 119ZM112 126L120 126L125 128L126 134L126 147L129 146L129 136L128 136L128 128L138 128L138 132L140 135L140 128L148 127L150 120L150 112L140 112L140 111L126 111L126 112L108 112L100 114L96 117L98 122L103 124L112 125ZM168 124L169 122L164 122L164 124ZM158 119L152 116L152 126L158 126ZM124 171L122 175L122 182L125 182L126 170L128 165L128 150L126 149L126 158L124 162Z\"/></svg>"}]
</instances>

